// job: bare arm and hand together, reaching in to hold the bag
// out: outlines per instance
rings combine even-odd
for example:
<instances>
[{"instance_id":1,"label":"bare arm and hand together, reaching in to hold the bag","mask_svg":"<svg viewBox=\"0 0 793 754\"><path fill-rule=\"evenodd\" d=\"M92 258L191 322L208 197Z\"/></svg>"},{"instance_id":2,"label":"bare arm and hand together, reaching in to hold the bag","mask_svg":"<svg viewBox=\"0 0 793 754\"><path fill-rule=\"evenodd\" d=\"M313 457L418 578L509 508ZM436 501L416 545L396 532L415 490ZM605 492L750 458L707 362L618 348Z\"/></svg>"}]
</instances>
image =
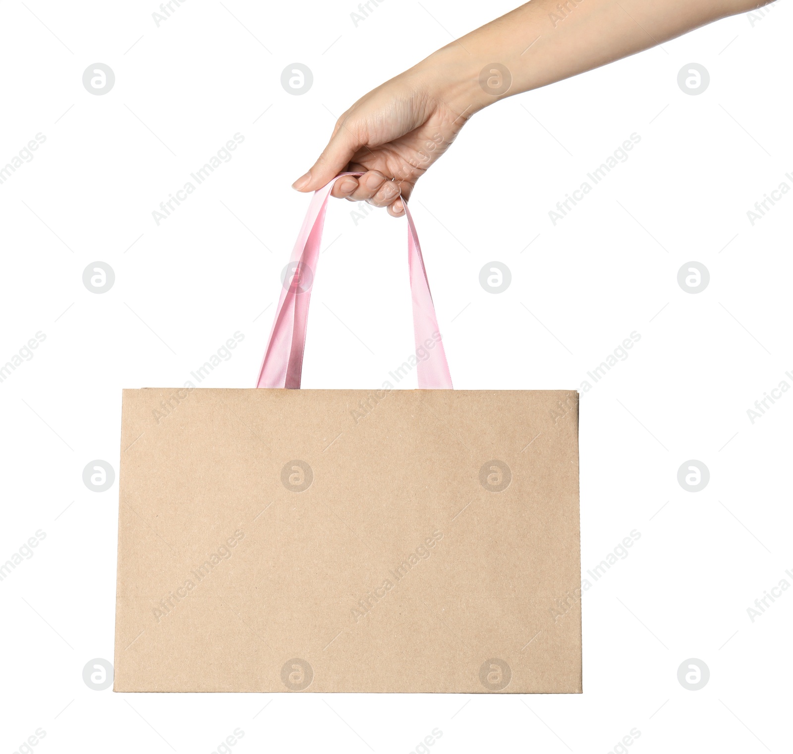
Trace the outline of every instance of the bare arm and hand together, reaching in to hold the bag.
<instances>
[{"instance_id":1,"label":"bare arm and hand together, reaching in to hold the bag","mask_svg":"<svg viewBox=\"0 0 793 754\"><path fill-rule=\"evenodd\" d=\"M293 188L314 191L339 172L363 172L358 179L339 180L332 195L387 207L400 217L402 198L410 197L416 181L479 110L762 5L757 0L532 0L365 94L339 117L328 146ZM494 70L496 63L508 74Z\"/></svg>"}]
</instances>

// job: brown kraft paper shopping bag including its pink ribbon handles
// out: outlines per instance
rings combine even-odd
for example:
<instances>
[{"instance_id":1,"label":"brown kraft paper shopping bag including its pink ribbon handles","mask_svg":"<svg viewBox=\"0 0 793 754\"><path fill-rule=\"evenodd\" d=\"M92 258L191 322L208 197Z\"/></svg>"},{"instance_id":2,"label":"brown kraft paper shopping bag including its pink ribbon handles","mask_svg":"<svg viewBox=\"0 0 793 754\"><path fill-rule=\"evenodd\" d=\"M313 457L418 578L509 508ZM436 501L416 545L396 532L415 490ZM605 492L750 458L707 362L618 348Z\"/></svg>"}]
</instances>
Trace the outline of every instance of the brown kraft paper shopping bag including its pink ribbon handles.
<instances>
[{"instance_id":1,"label":"brown kraft paper shopping bag including its pink ribbon handles","mask_svg":"<svg viewBox=\"0 0 793 754\"><path fill-rule=\"evenodd\" d=\"M124 390L115 691L580 693L578 394L297 390L331 185L259 376ZM308 281L308 282L307 282Z\"/></svg>"}]
</instances>

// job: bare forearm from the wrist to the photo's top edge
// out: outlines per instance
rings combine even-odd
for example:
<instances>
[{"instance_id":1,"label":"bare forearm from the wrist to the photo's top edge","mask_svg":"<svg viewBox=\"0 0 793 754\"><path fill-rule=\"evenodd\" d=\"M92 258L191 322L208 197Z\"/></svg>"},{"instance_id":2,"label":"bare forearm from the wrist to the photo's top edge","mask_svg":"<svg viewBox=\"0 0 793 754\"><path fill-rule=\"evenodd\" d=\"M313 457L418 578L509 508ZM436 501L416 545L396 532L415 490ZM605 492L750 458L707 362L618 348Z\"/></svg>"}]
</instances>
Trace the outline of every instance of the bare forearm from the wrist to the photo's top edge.
<instances>
[{"instance_id":1,"label":"bare forearm from the wrist to the photo's top edge","mask_svg":"<svg viewBox=\"0 0 793 754\"><path fill-rule=\"evenodd\" d=\"M465 117L662 44L757 0L532 0L408 71ZM504 67L493 67L498 64ZM482 79L482 80L481 80ZM511 79L511 80L510 80Z\"/></svg>"}]
</instances>

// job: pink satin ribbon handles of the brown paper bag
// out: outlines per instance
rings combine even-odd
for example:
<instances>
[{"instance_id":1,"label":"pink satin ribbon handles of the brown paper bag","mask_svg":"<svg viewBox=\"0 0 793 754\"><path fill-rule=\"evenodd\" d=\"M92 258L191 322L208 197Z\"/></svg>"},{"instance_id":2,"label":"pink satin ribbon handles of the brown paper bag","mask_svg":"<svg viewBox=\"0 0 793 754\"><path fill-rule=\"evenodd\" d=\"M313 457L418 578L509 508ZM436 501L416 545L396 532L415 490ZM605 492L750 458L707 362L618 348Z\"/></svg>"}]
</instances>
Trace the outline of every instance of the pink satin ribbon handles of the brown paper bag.
<instances>
[{"instance_id":1,"label":"pink satin ribbon handles of the brown paper bag","mask_svg":"<svg viewBox=\"0 0 793 754\"><path fill-rule=\"evenodd\" d=\"M333 184L345 175L362 173L339 173L327 186L314 192L292 252L256 387L300 387L308 302L311 300L312 283L320 259L325 212L328 210L328 198ZM451 390L449 364L446 363L446 352L443 350L438 319L435 317L435 305L432 303L419 237L408 210L408 202L403 200L402 203L408 218L408 270L413 298L413 333L416 339L419 389Z\"/></svg>"}]
</instances>

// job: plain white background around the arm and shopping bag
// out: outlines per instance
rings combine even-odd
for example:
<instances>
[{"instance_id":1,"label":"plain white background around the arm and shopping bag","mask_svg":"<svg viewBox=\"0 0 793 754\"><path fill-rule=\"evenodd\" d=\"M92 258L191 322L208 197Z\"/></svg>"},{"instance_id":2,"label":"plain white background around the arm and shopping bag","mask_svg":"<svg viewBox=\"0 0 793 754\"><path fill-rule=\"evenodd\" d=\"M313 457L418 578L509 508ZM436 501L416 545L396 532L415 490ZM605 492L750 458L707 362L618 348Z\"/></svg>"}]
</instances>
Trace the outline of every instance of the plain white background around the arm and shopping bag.
<instances>
[{"instance_id":1,"label":"plain white background around the arm and shopping bag","mask_svg":"<svg viewBox=\"0 0 793 754\"><path fill-rule=\"evenodd\" d=\"M605 754L633 728L631 752L791 750L793 591L747 614L793 583L793 394L753 424L746 413L793 385L793 195L755 225L746 214L793 187L785 4L499 102L411 203L455 387L577 389L641 335L581 398L582 568L642 535L585 594L584 694L113 694L82 681L88 660L113 658L117 544L117 483L95 493L82 470L117 471L121 388L181 386L236 331L204 386L253 387L308 206L289 184L334 117L510 9L391 0L356 28L352 0L189 0L158 28L154 2L0 2L0 165L46 136L0 185L0 363L46 335L0 383L0 562L46 533L0 582L0 751L37 728L36 752L209 754L236 728L240 754L407 754L434 728L437 754ZM696 96L677 84L692 61L711 75ZM102 96L82 85L96 62L116 76ZM314 75L301 96L280 83L294 62ZM156 225L152 210L235 133L231 162ZM631 133L630 159L552 225L549 210ZM305 387L377 387L412 350L404 219L356 226L353 209L328 213ZM105 294L82 283L97 260L115 271ZM479 283L492 260L511 270L502 294ZM699 294L677 283L691 260L711 275ZM690 459L711 473L697 493L677 482ZM688 658L710 668L701 691L677 680Z\"/></svg>"}]
</instances>

